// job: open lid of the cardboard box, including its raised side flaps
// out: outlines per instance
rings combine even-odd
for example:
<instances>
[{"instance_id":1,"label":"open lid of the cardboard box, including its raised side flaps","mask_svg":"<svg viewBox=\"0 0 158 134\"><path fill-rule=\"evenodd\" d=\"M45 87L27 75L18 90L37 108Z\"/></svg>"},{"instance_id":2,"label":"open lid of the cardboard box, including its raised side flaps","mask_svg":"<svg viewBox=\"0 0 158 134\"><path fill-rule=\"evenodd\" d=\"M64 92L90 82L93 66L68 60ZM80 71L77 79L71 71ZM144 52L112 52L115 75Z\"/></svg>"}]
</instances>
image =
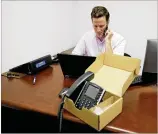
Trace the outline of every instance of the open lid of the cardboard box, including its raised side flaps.
<instances>
[{"instance_id":1,"label":"open lid of the cardboard box, including its raised side flaps","mask_svg":"<svg viewBox=\"0 0 158 134\"><path fill-rule=\"evenodd\" d=\"M121 97L131 84L132 78L139 73L139 66L139 59L104 53L86 71L95 74L91 82Z\"/></svg>"}]
</instances>

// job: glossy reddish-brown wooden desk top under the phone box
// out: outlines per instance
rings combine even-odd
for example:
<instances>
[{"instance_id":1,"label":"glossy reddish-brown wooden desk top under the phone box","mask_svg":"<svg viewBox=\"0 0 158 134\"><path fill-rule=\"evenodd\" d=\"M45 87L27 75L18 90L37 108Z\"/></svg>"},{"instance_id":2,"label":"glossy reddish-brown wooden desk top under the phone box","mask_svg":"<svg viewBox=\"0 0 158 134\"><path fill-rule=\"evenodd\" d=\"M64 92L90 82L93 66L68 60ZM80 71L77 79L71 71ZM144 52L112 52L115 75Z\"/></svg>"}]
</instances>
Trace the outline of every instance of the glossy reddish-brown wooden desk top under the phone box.
<instances>
[{"instance_id":1,"label":"glossy reddish-brown wooden desk top under the phone box","mask_svg":"<svg viewBox=\"0 0 158 134\"><path fill-rule=\"evenodd\" d=\"M60 99L58 93L63 87L69 87L74 80L63 77L59 65L53 65L37 75L36 84L33 77L7 79L1 76L2 105L33 110L57 116ZM105 129L113 132L157 132L157 89L154 86L130 87L124 97L123 111ZM64 118L84 123L68 112Z\"/></svg>"}]
</instances>

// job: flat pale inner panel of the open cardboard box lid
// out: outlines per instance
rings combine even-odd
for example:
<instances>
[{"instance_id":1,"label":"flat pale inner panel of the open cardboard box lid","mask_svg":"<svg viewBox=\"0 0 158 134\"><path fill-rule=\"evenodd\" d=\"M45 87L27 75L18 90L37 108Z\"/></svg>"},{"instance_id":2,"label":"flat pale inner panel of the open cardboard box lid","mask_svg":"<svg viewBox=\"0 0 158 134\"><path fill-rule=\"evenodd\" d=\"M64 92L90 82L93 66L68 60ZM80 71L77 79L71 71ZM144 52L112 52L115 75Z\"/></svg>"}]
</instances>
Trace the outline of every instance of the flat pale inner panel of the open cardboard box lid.
<instances>
[{"instance_id":1,"label":"flat pale inner panel of the open cardboard box lid","mask_svg":"<svg viewBox=\"0 0 158 134\"><path fill-rule=\"evenodd\" d=\"M98 72L95 73L91 82L121 97L123 95L123 87L125 83L128 83L127 80L131 75L132 72L103 65Z\"/></svg>"}]
</instances>

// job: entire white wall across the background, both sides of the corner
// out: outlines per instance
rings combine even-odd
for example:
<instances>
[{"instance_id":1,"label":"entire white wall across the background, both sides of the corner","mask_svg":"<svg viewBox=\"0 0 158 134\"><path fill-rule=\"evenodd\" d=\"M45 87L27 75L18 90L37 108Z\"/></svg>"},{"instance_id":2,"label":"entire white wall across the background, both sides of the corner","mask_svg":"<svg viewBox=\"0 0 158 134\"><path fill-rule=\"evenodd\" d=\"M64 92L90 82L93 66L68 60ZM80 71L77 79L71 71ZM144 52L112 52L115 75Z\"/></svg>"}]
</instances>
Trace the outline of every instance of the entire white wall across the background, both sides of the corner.
<instances>
[{"instance_id":1,"label":"entire white wall across the background, both sides of the corner","mask_svg":"<svg viewBox=\"0 0 158 134\"><path fill-rule=\"evenodd\" d=\"M143 65L147 39L157 38L157 1L2 1L2 72L75 46L97 5L107 7L109 27Z\"/></svg>"}]
</instances>

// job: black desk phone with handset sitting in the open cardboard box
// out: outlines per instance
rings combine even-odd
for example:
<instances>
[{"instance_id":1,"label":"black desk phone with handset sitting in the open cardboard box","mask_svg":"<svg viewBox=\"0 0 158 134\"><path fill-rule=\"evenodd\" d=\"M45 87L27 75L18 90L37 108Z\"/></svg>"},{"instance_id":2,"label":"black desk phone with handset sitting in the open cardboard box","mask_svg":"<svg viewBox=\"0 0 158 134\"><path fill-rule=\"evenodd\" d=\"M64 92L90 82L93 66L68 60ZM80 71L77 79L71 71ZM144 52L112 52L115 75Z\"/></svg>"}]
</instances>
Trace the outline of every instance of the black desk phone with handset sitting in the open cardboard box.
<instances>
[{"instance_id":1,"label":"black desk phone with handset sitting in the open cardboard box","mask_svg":"<svg viewBox=\"0 0 158 134\"><path fill-rule=\"evenodd\" d=\"M101 102L105 89L90 82L93 78L94 73L88 71L80 76L67 91L66 96L74 101L76 108L90 109Z\"/></svg>"}]
</instances>

